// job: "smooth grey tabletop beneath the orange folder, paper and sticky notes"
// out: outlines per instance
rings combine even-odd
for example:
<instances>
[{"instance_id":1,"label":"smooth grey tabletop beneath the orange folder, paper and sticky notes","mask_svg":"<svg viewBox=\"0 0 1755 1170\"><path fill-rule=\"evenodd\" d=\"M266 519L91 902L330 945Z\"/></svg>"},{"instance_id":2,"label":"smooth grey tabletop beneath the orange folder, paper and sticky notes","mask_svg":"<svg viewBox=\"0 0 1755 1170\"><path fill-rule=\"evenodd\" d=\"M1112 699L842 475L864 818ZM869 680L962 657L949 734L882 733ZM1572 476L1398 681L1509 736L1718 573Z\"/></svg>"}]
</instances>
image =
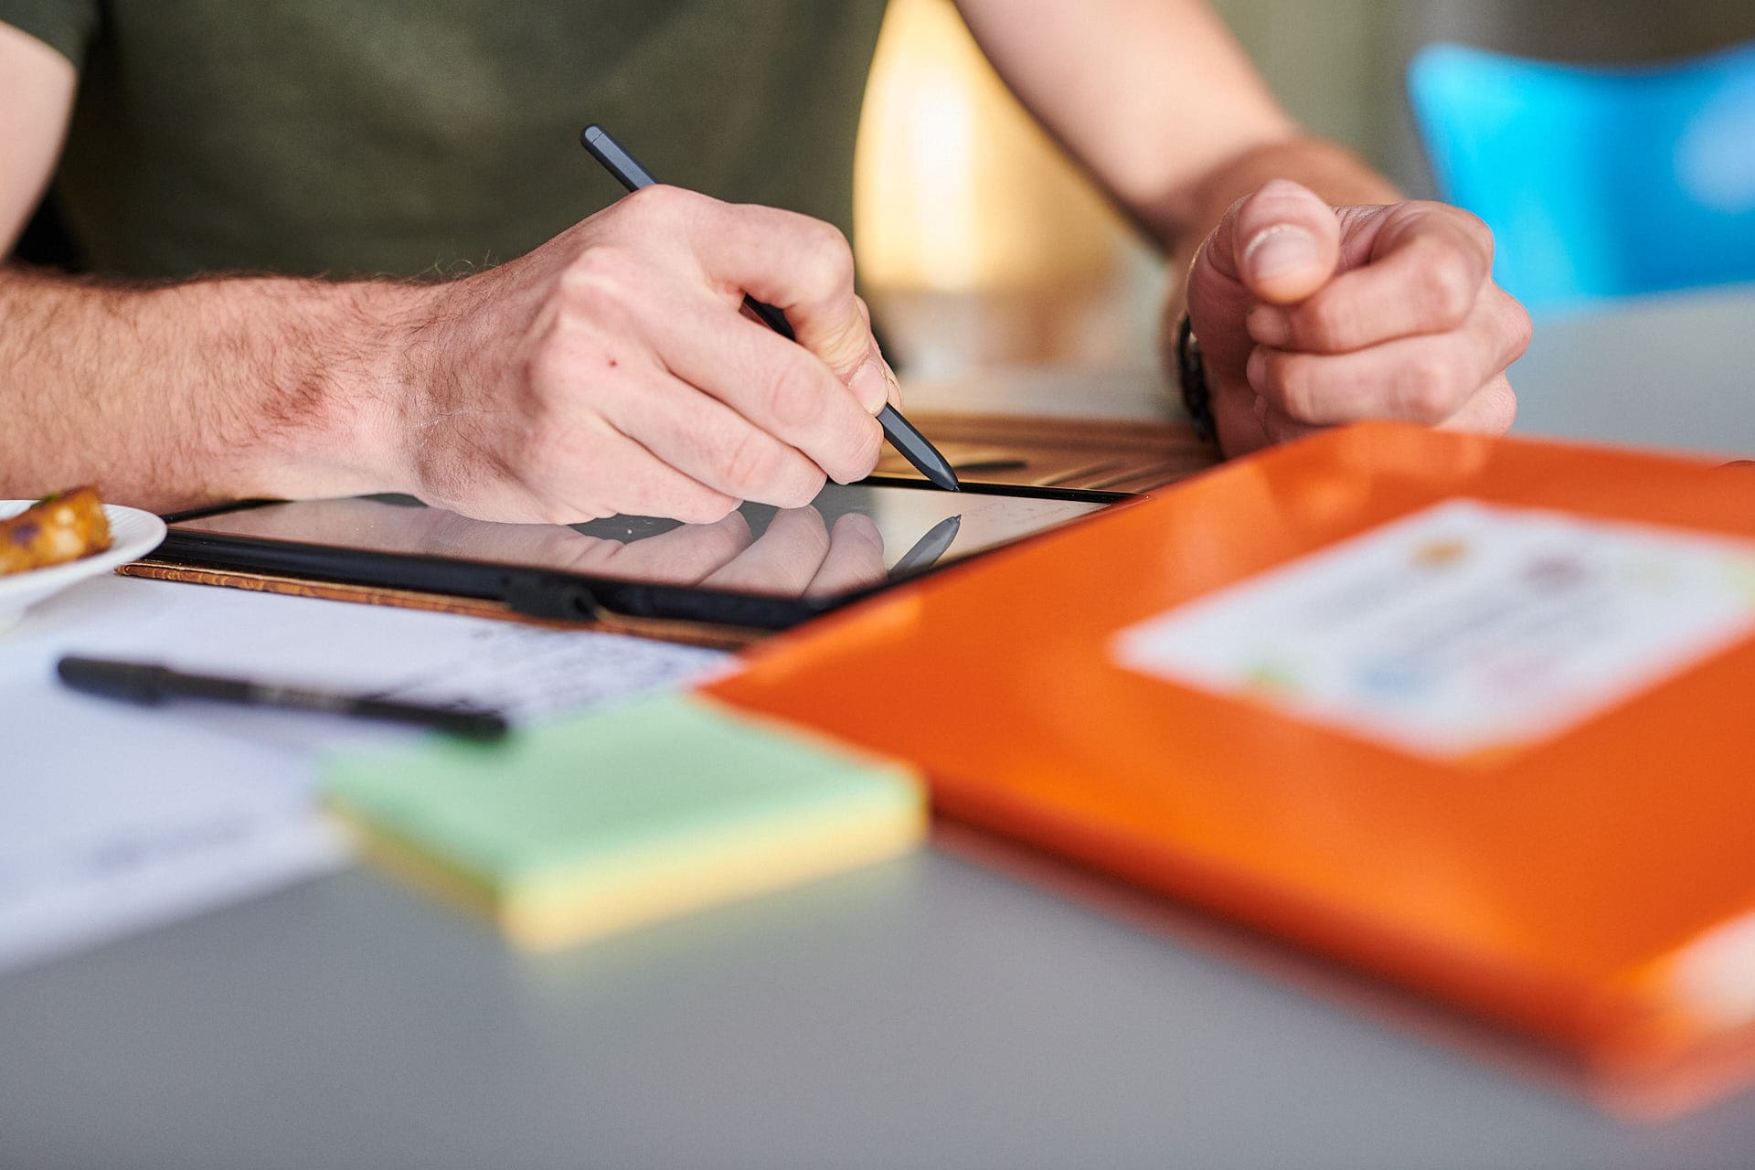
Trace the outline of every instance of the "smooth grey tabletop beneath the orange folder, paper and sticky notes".
<instances>
[{"instance_id":1,"label":"smooth grey tabletop beneath the orange folder, paper and sticky notes","mask_svg":"<svg viewBox=\"0 0 1755 1170\"><path fill-rule=\"evenodd\" d=\"M1755 451L1755 296L1674 309L1539 340L1525 423L1650 402L1646 368L1680 396L1667 339ZM990 861L941 840L541 960L349 870L28 968L0 1166L1755 1166L1755 1093L1611 1119L1413 1000Z\"/></svg>"}]
</instances>

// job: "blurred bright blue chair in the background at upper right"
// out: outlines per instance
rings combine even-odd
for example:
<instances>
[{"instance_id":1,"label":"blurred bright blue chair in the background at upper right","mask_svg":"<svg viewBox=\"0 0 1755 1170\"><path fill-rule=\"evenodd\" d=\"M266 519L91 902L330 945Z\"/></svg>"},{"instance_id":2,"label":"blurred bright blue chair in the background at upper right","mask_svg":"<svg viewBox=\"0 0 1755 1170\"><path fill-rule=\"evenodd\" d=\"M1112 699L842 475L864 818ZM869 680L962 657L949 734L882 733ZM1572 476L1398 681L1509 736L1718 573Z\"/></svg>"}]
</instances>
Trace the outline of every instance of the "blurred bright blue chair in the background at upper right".
<instances>
[{"instance_id":1,"label":"blurred bright blue chair in the background at upper right","mask_svg":"<svg viewBox=\"0 0 1755 1170\"><path fill-rule=\"evenodd\" d=\"M1437 44L1408 91L1439 193L1532 312L1755 281L1755 42L1641 68Z\"/></svg>"}]
</instances>

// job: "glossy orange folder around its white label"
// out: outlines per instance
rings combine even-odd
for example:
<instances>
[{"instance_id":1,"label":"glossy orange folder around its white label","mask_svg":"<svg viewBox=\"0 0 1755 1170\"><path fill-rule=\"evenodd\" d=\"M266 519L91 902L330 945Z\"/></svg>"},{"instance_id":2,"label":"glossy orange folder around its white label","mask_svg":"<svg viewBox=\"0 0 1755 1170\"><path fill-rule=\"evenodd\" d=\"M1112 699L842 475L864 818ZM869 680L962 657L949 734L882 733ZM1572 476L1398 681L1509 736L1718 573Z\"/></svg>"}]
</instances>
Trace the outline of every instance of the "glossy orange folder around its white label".
<instances>
[{"instance_id":1,"label":"glossy orange folder around its white label","mask_svg":"<svg viewBox=\"0 0 1755 1170\"><path fill-rule=\"evenodd\" d=\"M1362 424L888 591L707 691L916 761L941 814L1509 1024L1590 1074L1723 1088L1755 1051L1746 626L1490 749L1409 747L1120 649L1455 500L1755 549L1744 468ZM1736 588L1755 607L1755 577ZM1616 621L1580 646L1622 639Z\"/></svg>"}]
</instances>

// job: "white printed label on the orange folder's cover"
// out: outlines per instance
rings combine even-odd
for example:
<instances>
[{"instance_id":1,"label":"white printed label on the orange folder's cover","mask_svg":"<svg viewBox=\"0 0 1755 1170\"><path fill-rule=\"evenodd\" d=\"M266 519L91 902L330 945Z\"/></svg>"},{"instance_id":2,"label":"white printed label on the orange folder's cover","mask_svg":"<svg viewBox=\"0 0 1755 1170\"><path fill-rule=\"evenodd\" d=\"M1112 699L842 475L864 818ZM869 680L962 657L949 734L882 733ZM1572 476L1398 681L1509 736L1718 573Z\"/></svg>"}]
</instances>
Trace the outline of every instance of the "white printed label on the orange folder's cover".
<instances>
[{"instance_id":1,"label":"white printed label on the orange folder's cover","mask_svg":"<svg viewBox=\"0 0 1755 1170\"><path fill-rule=\"evenodd\" d=\"M1450 500L1116 635L1123 667L1423 756L1543 740L1755 631L1755 544Z\"/></svg>"}]
</instances>

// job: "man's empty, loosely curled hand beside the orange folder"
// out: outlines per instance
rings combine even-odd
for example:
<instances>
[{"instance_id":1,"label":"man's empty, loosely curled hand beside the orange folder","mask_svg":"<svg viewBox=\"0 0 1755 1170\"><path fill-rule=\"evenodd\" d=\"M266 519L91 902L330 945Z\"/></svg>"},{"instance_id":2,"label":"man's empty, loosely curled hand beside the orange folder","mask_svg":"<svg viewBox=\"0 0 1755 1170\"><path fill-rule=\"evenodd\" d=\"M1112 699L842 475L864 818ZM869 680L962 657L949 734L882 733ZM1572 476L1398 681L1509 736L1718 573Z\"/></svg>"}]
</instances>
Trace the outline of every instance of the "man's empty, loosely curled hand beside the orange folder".
<instances>
[{"instance_id":1,"label":"man's empty, loosely curled hand beside the orange folder","mask_svg":"<svg viewBox=\"0 0 1755 1170\"><path fill-rule=\"evenodd\" d=\"M1530 321L1492 260L1443 203L1329 207L1286 181L1236 202L1188 275L1225 453L1365 417L1508 430Z\"/></svg>"}]
</instances>

